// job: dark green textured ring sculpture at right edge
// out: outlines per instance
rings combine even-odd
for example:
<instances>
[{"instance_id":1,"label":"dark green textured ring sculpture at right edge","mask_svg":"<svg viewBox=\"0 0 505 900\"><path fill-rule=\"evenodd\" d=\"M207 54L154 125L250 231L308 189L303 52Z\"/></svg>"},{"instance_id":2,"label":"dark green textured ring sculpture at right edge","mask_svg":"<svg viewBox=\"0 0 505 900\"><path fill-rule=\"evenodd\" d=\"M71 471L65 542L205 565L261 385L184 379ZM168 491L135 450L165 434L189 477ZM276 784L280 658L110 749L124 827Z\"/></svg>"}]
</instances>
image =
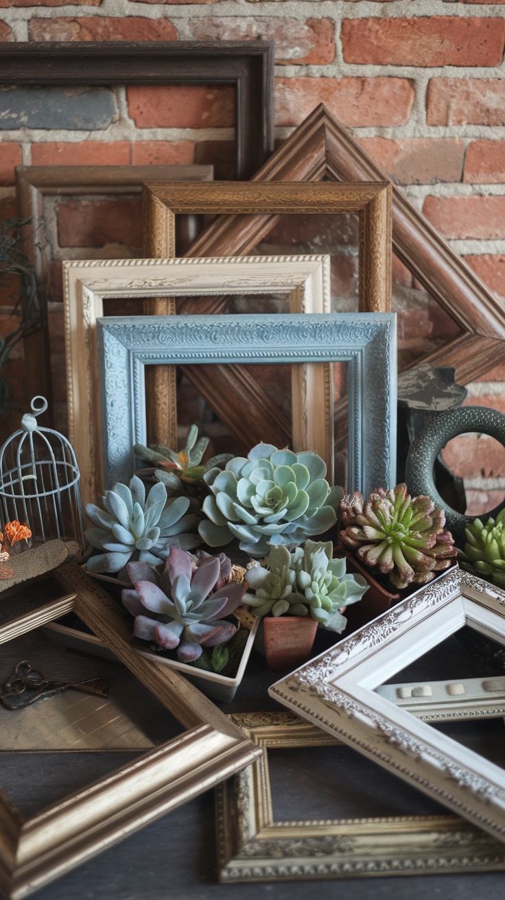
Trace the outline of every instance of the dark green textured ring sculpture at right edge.
<instances>
[{"instance_id":1,"label":"dark green textured ring sculpture at right edge","mask_svg":"<svg viewBox=\"0 0 505 900\"><path fill-rule=\"evenodd\" d=\"M498 410L489 410L486 406L461 406L436 416L423 428L410 446L407 456L406 481L413 497L428 494L437 506L445 510L446 527L455 537L456 544L464 542L464 528L474 518L496 518L500 509L505 507L505 500L495 509L480 516L464 516L447 506L435 487L433 466L437 455L452 437L467 431L479 431L484 435L495 437L505 446L505 416Z\"/></svg>"}]
</instances>

